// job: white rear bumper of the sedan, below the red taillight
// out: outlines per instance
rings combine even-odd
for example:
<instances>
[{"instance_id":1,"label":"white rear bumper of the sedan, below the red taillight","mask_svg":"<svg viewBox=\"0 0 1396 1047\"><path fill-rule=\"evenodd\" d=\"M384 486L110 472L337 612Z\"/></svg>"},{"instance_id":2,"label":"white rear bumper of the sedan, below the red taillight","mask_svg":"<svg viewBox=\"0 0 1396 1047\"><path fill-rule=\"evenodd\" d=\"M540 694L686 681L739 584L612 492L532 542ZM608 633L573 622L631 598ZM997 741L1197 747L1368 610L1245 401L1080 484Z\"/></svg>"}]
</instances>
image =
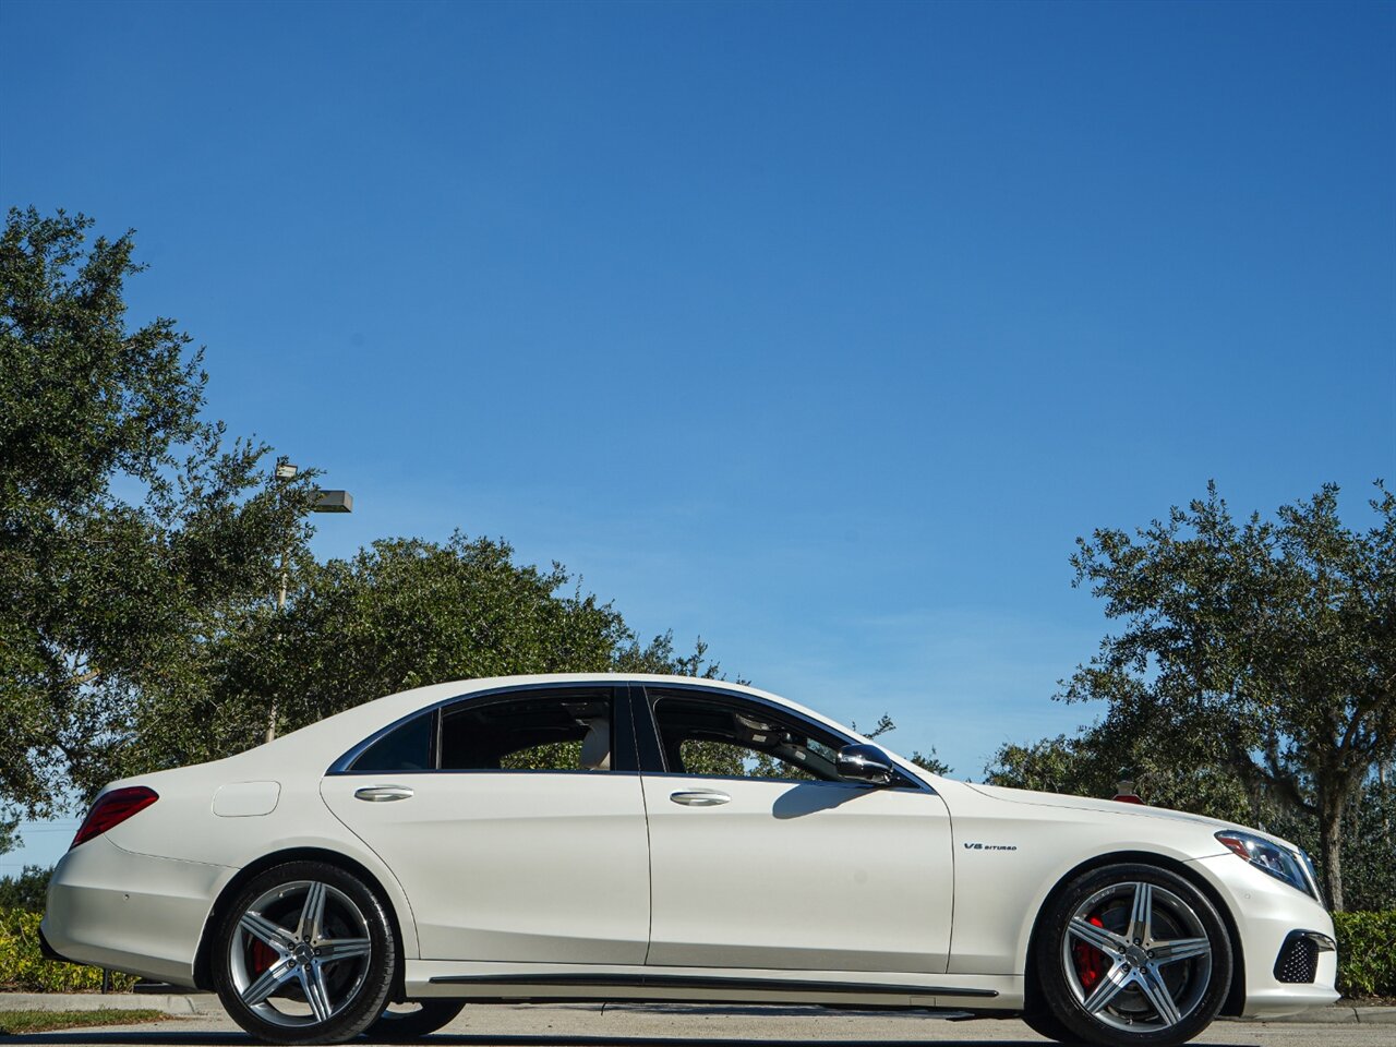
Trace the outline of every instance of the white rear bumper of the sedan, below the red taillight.
<instances>
[{"instance_id":1,"label":"white rear bumper of the sedan, below the red taillight","mask_svg":"<svg viewBox=\"0 0 1396 1047\"><path fill-rule=\"evenodd\" d=\"M70 963L194 986L194 956L233 870L121 850L98 836L53 870L40 949Z\"/></svg>"}]
</instances>

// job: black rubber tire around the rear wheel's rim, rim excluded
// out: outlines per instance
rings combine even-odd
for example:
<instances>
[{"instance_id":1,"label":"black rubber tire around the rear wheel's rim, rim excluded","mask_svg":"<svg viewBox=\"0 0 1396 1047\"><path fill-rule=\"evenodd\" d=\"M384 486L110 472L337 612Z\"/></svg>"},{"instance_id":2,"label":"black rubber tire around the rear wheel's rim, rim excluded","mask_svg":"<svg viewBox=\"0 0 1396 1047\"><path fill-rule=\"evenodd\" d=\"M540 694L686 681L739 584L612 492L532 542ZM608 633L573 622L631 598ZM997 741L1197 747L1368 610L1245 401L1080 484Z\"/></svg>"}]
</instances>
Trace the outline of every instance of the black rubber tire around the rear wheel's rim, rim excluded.
<instances>
[{"instance_id":1,"label":"black rubber tire around the rear wheel's rim, rim excluded","mask_svg":"<svg viewBox=\"0 0 1396 1047\"><path fill-rule=\"evenodd\" d=\"M359 906L369 926L371 953L363 984L346 1008L320 1025L281 1026L265 1020L243 1004L229 970L229 945L247 906L278 885L300 879L320 881L338 888ZM276 1044L343 1043L364 1032L383 1013L396 974L396 956L392 921L377 892L339 866L327 861L288 861L247 881L223 913L214 944L214 986L228 1015L258 1040Z\"/></svg>"}]
</instances>

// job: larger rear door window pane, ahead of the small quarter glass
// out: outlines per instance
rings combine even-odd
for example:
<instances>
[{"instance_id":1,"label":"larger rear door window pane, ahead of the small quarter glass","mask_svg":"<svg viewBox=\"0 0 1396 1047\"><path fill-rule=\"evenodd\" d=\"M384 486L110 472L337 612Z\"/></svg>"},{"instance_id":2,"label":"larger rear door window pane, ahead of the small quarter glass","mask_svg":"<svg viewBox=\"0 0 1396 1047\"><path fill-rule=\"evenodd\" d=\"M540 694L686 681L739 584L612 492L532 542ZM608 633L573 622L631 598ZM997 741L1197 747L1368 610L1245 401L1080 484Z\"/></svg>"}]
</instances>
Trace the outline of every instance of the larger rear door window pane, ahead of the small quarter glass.
<instances>
[{"instance_id":1,"label":"larger rear door window pane, ahead of the small quarter glass","mask_svg":"<svg viewBox=\"0 0 1396 1047\"><path fill-rule=\"evenodd\" d=\"M443 771L609 771L609 691L463 702L441 719Z\"/></svg>"}]
</instances>

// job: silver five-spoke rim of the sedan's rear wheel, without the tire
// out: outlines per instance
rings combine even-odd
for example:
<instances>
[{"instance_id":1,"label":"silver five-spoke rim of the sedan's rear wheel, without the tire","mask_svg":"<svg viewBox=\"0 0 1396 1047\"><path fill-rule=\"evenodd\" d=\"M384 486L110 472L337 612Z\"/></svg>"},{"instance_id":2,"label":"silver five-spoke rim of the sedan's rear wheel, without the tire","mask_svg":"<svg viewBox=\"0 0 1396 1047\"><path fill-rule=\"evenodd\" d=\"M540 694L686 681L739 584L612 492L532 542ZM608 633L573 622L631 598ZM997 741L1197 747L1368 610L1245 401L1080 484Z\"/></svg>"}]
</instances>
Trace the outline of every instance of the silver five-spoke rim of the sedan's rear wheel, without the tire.
<instances>
[{"instance_id":1,"label":"silver five-spoke rim of the sedan's rear wheel, without the tire","mask_svg":"<svg viewBox=\"0 0 1396 1047\"><path fill-rule=\"evenodd\" d=\"M367 977L371 953L369 921L345 892L296 879L247 906L229 937L228 970L258 1018L307 1026L348 1007Z\"/></svg>"}]
</instances>

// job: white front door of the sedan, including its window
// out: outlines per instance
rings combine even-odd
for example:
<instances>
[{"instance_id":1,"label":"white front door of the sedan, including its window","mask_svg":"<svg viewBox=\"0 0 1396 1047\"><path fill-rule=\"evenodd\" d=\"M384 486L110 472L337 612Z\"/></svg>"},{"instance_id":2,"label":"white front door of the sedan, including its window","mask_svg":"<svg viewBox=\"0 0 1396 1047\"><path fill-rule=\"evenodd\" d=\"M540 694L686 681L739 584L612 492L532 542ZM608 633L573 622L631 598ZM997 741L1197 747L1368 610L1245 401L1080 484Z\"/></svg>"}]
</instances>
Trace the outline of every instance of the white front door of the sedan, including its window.
<instances>
[{"instance_id":1,"label":"white front door of the sedan, including its window","mask_svg":"<svg viewBox=\"0 0 1396 1047\"><path fill-rule=\"evenodd\" d=\"M783 706L676 688L646 690L635 708L639 730L652 712L663 762L642 773L648 963L946 970L953 857L940 796L909 775L840 780L845 738Z\"/></svg>"}]
</instances>

